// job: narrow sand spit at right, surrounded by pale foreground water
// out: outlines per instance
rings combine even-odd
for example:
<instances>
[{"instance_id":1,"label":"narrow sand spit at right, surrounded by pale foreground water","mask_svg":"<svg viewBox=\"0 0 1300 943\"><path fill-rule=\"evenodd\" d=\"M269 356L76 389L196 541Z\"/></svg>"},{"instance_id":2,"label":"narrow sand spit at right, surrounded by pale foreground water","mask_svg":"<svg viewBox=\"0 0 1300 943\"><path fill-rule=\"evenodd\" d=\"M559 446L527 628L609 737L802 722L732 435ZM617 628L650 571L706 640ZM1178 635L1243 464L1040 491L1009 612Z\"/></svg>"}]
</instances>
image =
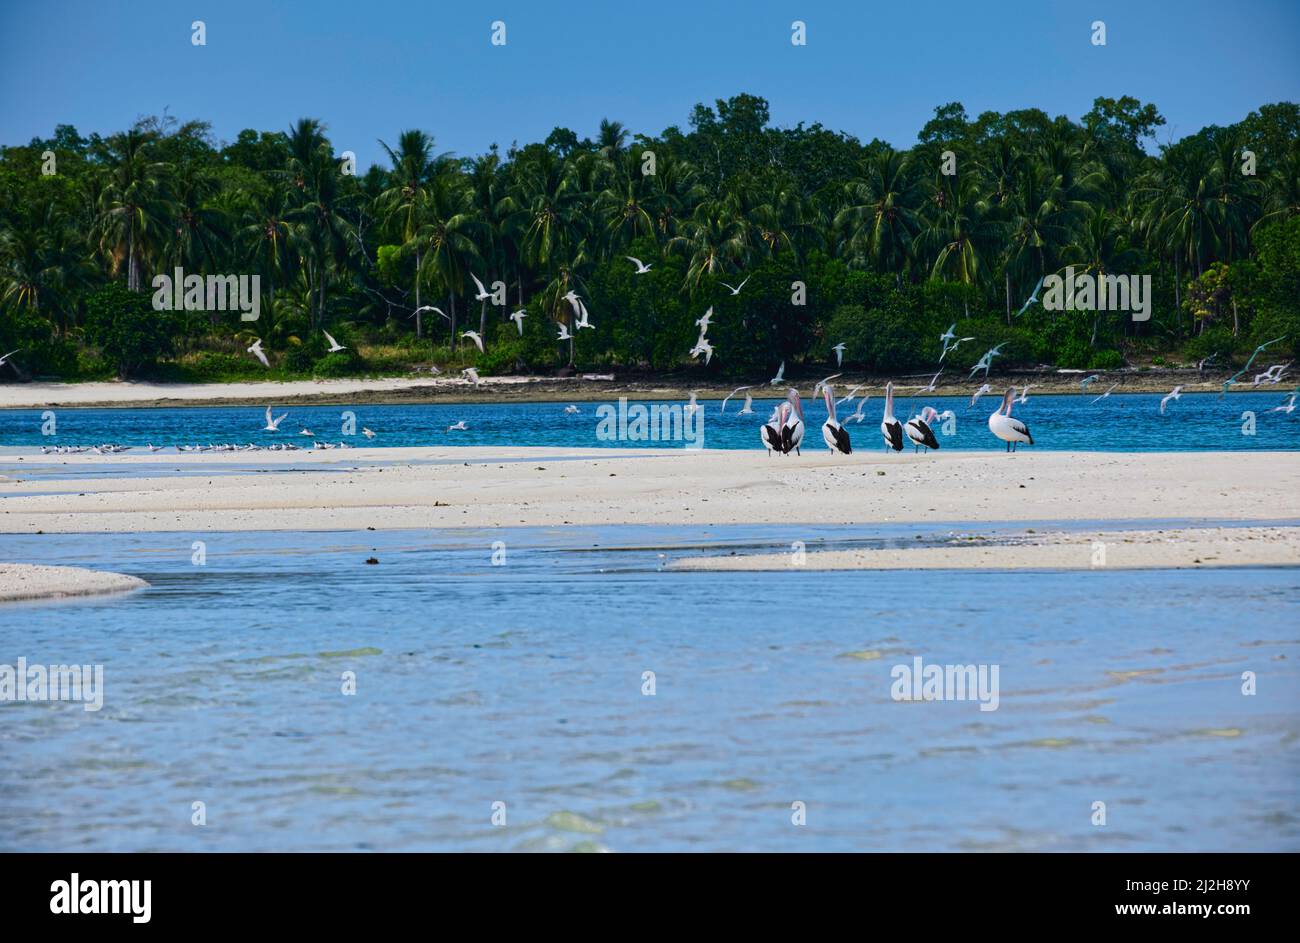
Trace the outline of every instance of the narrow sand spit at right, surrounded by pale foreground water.
<instances>
[{"instance_id":1,"label":"narrow sand spit at right, surrounded by pale foreground water","mask_svg":"<svg viewBox=\"0 0 1300 943\"><path fill-rule=\"evenodd\" d=\"M1300 564L1300 527L1037 533L1013 545L957 538L950 545L692 557L673 570L1148 570Z\"/></svg>"}]
</instances>

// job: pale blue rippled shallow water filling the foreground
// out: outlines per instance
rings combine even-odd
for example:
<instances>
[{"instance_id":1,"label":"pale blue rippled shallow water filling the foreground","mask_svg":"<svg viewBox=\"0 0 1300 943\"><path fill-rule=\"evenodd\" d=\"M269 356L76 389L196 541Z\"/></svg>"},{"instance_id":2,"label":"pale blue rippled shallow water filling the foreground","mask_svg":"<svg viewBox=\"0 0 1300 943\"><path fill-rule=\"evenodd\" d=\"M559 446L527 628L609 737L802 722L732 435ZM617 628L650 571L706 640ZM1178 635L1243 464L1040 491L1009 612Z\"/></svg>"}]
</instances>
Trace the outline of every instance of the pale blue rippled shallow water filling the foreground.
<instances>
[{"instance_id":1,"label":"pale blue rippled shallow water filling the foreground","mask_svg":"<svg viewBox=\"0 0 1300 943\"><path fill-rule=\"evenodd\" d=\"M0 849L1300 849L1300 568L662 568L796 538L6 536L152 585L0 615L0 662L107 688L0 705ZM997 665L998 709L892 700L914 656Z\"/></svg>"}]
</instances>

